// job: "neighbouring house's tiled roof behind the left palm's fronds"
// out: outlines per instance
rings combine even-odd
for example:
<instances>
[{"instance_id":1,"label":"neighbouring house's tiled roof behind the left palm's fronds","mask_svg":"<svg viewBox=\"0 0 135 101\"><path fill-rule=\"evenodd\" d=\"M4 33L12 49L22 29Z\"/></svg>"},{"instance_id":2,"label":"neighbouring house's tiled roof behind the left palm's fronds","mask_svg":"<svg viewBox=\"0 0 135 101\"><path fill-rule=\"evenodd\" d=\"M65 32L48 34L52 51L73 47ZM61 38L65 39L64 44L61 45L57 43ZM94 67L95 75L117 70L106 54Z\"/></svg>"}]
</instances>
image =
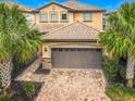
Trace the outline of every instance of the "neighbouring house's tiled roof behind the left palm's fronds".
<instances>
[{"instance_id":1,"label":"neighbouring house's tiled roof behind the left palm's fronds","mask_svg":"<svg viewBox=\"0 0 135 101\"><path fill-rule=\"evenodd\" d=\"M5 3L9 7L13 7L14 4L19 5L19 9L22 10L22 11L32 11L34 9L25 5L25 4L22 4L22 3L19 3L19 2L11 2L11 1L5 1L5 2L1 2L1 3Z\"/></svg>"}]
</instances>

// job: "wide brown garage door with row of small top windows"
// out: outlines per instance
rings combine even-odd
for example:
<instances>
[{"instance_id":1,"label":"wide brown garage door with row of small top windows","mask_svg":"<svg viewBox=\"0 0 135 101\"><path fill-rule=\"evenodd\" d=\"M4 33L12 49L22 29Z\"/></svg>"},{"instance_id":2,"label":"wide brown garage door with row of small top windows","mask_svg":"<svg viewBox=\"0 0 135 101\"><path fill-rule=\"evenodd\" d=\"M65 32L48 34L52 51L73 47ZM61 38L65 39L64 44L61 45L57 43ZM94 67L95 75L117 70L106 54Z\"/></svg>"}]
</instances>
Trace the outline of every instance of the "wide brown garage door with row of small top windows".
<instances>
[{"instance_id":1,"label":"wide brown garage door with row of small top windows","mask_svg":"<svg viewBox=\"0 0 135 101\"><path fill-rule=\"evenodd\" d=\"M101 65L101 50L53 48L52 67L54 68L98 68Z\"/></svg>"}]
</instances>

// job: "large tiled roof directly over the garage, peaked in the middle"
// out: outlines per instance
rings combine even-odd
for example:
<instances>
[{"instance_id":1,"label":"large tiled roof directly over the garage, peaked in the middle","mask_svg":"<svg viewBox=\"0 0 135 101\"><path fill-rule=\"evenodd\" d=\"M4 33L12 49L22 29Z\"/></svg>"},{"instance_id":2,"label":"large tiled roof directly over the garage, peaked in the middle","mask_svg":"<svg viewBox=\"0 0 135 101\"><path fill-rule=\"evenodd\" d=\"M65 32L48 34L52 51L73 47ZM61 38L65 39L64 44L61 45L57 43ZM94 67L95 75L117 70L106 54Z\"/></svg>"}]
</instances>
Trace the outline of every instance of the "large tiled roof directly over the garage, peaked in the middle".
<instances>
[{"instance_id":1,"label":"large tiled roof directly over the garage, peaked in the middle","mask_svg":"<svg viewBox=\"0 0 135 101\"><path fill-rule=\"evenodd\" d=\"M100 31L75 22L41 36L42 40L97 40Z\"/></svg>"}]
</instances>

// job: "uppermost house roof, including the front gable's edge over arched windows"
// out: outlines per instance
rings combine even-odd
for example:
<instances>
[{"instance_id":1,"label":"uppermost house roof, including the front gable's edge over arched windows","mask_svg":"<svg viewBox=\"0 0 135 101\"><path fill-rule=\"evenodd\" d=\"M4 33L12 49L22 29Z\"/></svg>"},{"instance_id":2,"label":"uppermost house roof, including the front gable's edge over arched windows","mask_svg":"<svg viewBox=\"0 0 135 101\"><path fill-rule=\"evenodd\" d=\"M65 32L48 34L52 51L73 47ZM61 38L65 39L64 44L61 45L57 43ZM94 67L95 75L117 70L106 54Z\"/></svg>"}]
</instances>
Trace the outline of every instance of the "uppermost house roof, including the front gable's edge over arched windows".
<instances>
[{"instance_id":1,"label":"uppermost house roof, including the front gable's edge over arched windows","mask_svg":"<svg viewBox=\"0 0 135 101\"><path fill-rule=\"evenodd\" d=\"M76 0L69 0L69 1L63 2L63 3L58 3L58 2L52 1L52 2L49 2L48 4L44 4L39 8L37 8L36 10L41 10L44 8L49 7L50 4L60 5L64 9L68 9L69 11L98 11L98 12L105 12L106 11L102 8L82 3L82 2L78 2Z\"/></svg>"}]
</instances>

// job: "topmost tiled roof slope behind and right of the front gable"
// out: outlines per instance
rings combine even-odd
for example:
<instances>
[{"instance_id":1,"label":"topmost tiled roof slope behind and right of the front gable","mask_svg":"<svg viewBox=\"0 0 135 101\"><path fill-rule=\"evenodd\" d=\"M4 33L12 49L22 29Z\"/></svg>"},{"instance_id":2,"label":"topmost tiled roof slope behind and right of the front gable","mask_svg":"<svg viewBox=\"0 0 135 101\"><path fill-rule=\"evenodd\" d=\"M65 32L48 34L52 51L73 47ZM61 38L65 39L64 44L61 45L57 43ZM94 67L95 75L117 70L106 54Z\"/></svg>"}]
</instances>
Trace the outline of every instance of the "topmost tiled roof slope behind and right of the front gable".
<instances>
[{"instance_id":1,"label":"topmost tiled roof slope behind and right of the front gable","mask_svg":"<svg viewBox=\"0 0 135 101\"><path fill-rule=\"evenodd\" d=\"M106 11L102 8L82 3L76 0L70 0L68 2L63 2L62 4L72 9L73 11Z\"/></svg>"}]
</instances>

